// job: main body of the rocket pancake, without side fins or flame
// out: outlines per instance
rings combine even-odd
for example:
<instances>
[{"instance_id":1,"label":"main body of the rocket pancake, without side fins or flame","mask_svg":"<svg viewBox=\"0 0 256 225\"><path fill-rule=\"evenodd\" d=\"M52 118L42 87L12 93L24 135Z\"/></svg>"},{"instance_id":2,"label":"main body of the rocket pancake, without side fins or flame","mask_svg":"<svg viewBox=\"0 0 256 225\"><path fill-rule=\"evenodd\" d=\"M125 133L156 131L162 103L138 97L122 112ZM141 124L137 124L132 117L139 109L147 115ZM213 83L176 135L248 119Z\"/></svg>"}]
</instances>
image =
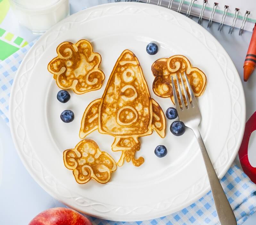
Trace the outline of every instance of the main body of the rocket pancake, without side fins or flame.
<instances>
[{"instance_id":1,"label":"main body of the rocket pancake, without side fins or flame","mask_svg":"<svg viewBox=\"0 0 256 225\"><path fill-rule=\"evenodd\" d=\"M124 50L109 77L99 107L99 132L113 136L152 133L152 103L140 63Z\"/></svg>"}]
</instances>

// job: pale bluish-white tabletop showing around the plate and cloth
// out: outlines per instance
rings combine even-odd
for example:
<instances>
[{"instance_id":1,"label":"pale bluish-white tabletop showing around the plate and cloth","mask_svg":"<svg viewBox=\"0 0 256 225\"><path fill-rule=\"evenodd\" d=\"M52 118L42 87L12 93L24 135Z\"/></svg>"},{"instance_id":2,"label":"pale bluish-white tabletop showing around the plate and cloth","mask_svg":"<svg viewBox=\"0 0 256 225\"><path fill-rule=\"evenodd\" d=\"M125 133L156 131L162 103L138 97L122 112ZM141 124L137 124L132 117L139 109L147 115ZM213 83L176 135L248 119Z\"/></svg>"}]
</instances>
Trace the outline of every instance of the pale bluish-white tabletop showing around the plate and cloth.
<instances>
[{"instance_id":1,"label":"pale bluish-white tabletop showing around the plate and cloth","mask_svg":"<svg viewBox=\"0 0 256 225\"><path fill-rule=\"evenodd\" d=\"M79 1L70 0L71 13L86 7L104 3L106 0L99 1ZM198 20L197 18L193 18ZM206 20L202 26L207 27ZM244 32L238 36L238 29L232 35L228 34L228 26L223 26L221 32L217 31L217 23L213 22L211 29L206 28L226 49L232 58L237 71L243 80L243 64L247 48L252 33ZM16 24L15 27L19 25ZM30 36L27 30L24 31ZM36 36L35 36L36 37ZM256 71L252 74L248 82L243 81L246 96L246 112L248 119L256 111ZM17 152L14 148L9 127L4 120L0 119L0 224L1 225L26 225L38 213L52 207L64 207L62 203L47 194L29 175ZM249 160L252 165L256 165L256 136L250 139L251 148L249 149ZM235 160L239 165L239 159ZM256 213L253 214L244 225L255 225Z\"/></svg>"}]
</instances>

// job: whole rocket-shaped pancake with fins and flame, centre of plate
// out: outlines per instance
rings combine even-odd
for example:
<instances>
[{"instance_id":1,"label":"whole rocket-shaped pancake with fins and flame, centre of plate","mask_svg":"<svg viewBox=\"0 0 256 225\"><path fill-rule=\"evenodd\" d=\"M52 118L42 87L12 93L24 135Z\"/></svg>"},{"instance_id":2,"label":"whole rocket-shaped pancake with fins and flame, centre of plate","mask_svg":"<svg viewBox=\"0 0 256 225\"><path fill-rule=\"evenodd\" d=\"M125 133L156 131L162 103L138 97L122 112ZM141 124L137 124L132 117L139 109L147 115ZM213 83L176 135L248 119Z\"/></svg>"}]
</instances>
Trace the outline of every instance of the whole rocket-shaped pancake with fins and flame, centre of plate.
<instances>
[{"instance_id":1,"label":"whole rocket-shaped pancake with fins and flame, centre of plate","mask_svg":"<svg viewBox=\"0 0 256 225\"><path fill-rule=\"evenodd\" d=\"M130 50L118 58L102 98L91 102L83 115L79 136L84 138L98 129L99 133L115 137L113 151L122 151L118 166L124 160L140 166L143 157L139 137L151 135L154 129L165 136L165 116L158 103L150 97L141 66Z\"/></svg>"}]
</instances>

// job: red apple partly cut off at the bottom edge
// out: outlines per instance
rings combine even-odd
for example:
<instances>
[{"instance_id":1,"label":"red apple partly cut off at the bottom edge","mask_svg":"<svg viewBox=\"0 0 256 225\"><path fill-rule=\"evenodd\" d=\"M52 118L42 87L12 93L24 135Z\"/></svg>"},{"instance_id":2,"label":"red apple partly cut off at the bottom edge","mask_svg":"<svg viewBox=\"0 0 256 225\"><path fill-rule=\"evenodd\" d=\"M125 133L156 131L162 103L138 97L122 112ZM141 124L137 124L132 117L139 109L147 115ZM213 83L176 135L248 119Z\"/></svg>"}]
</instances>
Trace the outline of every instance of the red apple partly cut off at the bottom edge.
<instances>
[{"instance_id":1,"label":"red apple partly cut off at the bottom edge","mask_svg":"<svg viewBox=\"0 0 256 225\"><path fill-rule=\"evenodd\" d=\"M39 213L29 225L92 225L83 215L68 208L52 208Z\"/></svg>"}]
</instances>

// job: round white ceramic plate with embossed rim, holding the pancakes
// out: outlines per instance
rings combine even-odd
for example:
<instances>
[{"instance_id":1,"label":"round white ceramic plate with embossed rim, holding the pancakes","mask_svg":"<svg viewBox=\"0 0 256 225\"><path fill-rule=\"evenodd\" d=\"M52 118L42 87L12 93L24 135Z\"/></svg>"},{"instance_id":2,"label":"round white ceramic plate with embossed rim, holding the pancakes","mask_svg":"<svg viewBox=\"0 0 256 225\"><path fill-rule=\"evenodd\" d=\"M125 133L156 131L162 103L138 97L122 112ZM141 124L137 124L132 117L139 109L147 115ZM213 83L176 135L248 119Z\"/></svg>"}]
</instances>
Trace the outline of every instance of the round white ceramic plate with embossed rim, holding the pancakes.
<instances>
[{"instance_id":1,"label":"round white ceramic plate with embossed rim, holding the pancakes","mask_svg":"<svg viewBox=\"0 0 256 225\"><path fill-rule=\"evenodd\" d=\"M71 99L57 101L59 90L47 71L56 56L56 47L64 41L80 39L92 42L102 56L100 68L106 79L103 87L83 95L70 91ZM159 52L150 56L146 45L155 41ZM26 55L12 87L10 118L12 137L29 173L53 197L90 215L116 221L136 221L161 217L178 211L210 190L199 146L191 130L173 136L167 121L166 137L155 132L141 137L145 163L134 167L125 163L105 185L95 181L79 185L72 171L65 168L62 152L74 148L80 120L87 105L103 94L112 68L124 49L132 50L140 61L151 97L165 112L173 106L169 98L152 91L152 63L175 54L187 56L207 76L204 94L198 98L202 113L200 131L211 160L221 178L230 167L244 132L245 100L240 78L233 62L218 41L204 28L184 15L163 7L143 3L105 4L78 12L46 32ZM60 120L60 113L71 109L75 120ZM102 151L118 160L112 152L113 137L94 131ZM168 154L154 155L164 144Z\"/></svg>"}]
</instances>

